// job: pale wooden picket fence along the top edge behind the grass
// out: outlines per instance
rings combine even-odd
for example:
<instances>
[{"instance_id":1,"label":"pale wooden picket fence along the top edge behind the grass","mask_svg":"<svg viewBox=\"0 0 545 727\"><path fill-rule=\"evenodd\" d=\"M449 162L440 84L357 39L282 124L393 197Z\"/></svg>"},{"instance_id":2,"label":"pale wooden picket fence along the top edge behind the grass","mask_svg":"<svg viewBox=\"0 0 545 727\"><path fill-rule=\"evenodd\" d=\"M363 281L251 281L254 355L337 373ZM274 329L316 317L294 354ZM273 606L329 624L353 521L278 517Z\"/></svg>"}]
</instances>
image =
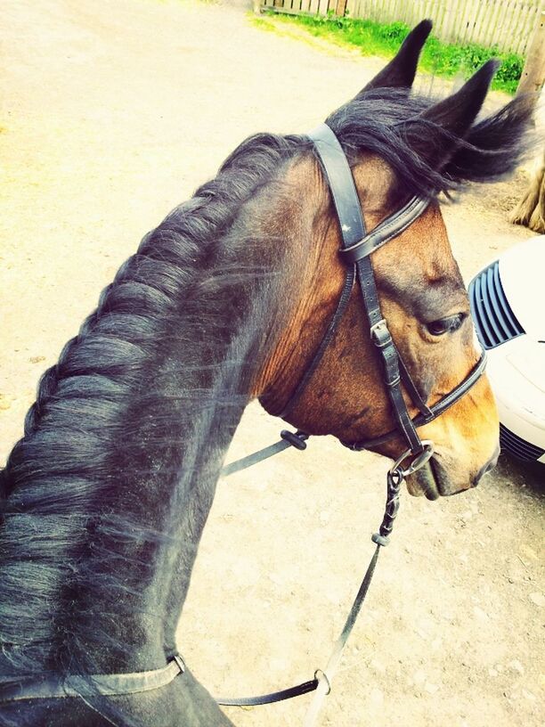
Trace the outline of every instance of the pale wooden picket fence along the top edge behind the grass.
<instances>
[{"instance_id":1,"label":"pale wooden picket fence along the top edge behind the grass","mask_svg":"<svg viewBox=\"0 0 545 727\"><path fill-rule=\"evenodd\" d=\"M279 12L348 14L409 26L431 18L435 37L446 43L497 46L524 55L543 0L262 0L261 5Z\"/></svg>"}]
</instances>

